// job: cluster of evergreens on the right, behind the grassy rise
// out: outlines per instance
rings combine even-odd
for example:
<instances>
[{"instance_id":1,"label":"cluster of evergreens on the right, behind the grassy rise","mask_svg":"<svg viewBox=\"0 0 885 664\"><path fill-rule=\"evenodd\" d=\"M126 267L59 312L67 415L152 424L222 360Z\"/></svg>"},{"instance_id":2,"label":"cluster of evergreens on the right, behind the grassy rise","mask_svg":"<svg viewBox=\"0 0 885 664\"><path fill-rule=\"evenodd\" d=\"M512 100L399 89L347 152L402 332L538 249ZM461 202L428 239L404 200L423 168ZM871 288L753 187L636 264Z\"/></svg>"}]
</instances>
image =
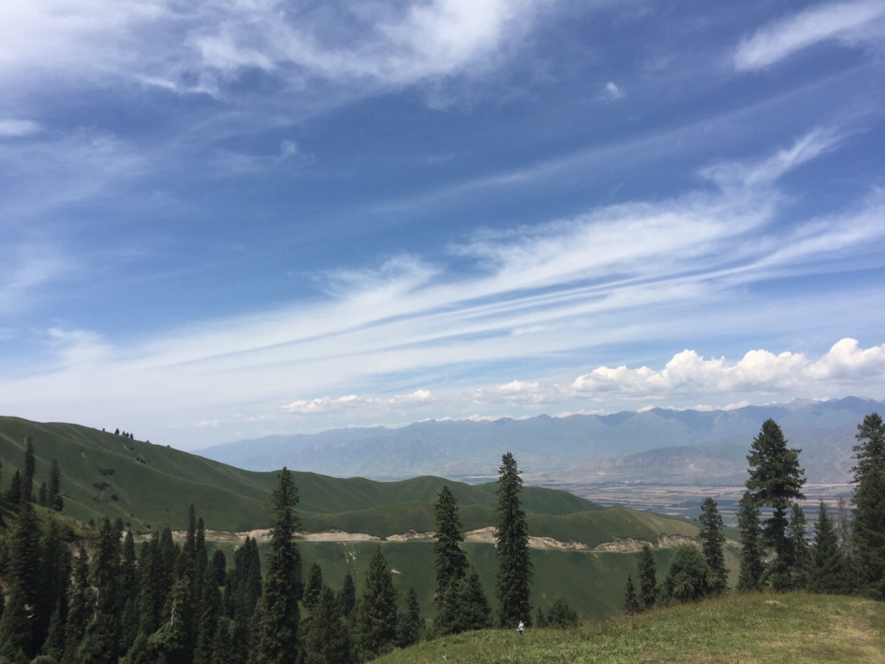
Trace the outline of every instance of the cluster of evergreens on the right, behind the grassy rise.
<instances>
[{"instance_id":1,"label":"cluster of evergreens on the right, behind the grassy rise","mask_svg":"<svg viewBox=\"0 0 885 664\"><path fill-rule=\"evenodd\" d=\"M773 420L763 423L747 455L747 491L738 503L741 564L736 591L804 590L885 599L885 424L871 413L858 424L853 452L855 483L850 510L840 498L837 517L820 501L813 537L798 500L804 500L801 450L790 449ZM764 521L762 507L771 515ZM699 518L701 548L682 544L658 585L649 545L637 563L638 589L627 576L624 611L638 614L656 604L721 595L728 590L723 522L706 498Z\"/></svg>"}]
</instances>

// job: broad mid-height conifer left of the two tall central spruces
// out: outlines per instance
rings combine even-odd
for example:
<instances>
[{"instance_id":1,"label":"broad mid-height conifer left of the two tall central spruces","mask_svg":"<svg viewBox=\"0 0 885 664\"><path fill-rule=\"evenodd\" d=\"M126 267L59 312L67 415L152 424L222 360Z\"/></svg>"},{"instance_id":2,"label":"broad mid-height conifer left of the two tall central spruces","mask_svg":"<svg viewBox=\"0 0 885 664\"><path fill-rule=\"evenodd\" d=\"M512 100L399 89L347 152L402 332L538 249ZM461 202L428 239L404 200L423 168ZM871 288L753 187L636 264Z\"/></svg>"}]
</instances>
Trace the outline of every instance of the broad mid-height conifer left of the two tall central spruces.
<instances>
[{"instance_id":1,"label":"broad mid-height conifer left of the two tall central spruces","mask_svg":"<svg viewBox=\"0 0 885 664\"><path fill-rule=\"evenodd\" d=\"M375 548L357 605L356 641L360 656L372 660L396 645L396 589L381 546Z\"/></svg>"}]
</instances>

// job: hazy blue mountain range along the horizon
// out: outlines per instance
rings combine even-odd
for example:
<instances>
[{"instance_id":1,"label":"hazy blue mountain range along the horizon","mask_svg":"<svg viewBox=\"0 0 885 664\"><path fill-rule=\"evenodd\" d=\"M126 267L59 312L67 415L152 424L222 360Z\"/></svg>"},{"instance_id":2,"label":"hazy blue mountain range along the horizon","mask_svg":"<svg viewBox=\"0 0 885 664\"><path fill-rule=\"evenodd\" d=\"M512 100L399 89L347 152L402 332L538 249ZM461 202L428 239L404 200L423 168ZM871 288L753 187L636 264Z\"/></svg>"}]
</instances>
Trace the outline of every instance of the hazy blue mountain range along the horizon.
<instances>
[{"instance_id":1,"label":"hazy blue mountain range along the horizon","mask_svg":"<svg viewBox=\"0 0 885 664\"><path fill-rule=\"evenodd\" d=\"M812 483L850 479L858 422L885 402L847 397L749 405L728 411L539 415L528 420L426 421L402 429L330 429L266 436L197 453L236 467L283 465L324 475L400 479L414 475L488 478L502 451L528 475L588 483L743 483L746 454L763 421L781 425Z\"/></svg>"}]
</instances>

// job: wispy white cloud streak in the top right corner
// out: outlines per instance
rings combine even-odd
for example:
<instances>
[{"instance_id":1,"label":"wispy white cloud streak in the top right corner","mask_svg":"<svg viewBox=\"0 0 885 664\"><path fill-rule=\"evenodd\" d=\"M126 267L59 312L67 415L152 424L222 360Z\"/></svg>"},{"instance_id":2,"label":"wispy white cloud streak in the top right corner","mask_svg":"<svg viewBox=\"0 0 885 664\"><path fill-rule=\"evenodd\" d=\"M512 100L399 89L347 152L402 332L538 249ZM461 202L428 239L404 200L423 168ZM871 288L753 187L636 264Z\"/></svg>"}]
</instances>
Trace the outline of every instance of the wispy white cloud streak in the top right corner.
<instances>
[{"instance_id":1,"label":"wispy white cloud streak in the top right corner","mask_svg":"<svg viewBox=\"0 0 885 664\"><path fill-rule=\"evenodd\" d=\"M735 69L762 69L827 40L856 44L883 39L885 3L881 0L818 4L761 27L741 42L735 50Z\"/></svg>"}]
</instances>

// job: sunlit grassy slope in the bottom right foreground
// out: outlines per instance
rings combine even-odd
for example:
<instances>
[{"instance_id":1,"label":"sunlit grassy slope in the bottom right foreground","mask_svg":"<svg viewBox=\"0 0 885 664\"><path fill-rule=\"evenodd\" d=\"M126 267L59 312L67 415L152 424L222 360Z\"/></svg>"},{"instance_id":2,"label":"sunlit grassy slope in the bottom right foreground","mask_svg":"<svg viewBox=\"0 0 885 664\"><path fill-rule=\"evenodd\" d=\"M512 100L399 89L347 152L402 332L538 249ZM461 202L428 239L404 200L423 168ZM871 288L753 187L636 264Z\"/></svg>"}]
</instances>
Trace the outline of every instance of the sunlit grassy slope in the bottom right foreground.
<instances>
[{"instance_id":1,"label":"sunlit grassy slope in the bottom right foreground","mask_svg":"<svg viewBox=\"0 0 885 664\"><path fill-rule=\"evenodd\" d=\"M573 630L496 629L392 652L378 664L881 664L885 604L792 593L730 595Z\"/></svg>"}]
</instances>

